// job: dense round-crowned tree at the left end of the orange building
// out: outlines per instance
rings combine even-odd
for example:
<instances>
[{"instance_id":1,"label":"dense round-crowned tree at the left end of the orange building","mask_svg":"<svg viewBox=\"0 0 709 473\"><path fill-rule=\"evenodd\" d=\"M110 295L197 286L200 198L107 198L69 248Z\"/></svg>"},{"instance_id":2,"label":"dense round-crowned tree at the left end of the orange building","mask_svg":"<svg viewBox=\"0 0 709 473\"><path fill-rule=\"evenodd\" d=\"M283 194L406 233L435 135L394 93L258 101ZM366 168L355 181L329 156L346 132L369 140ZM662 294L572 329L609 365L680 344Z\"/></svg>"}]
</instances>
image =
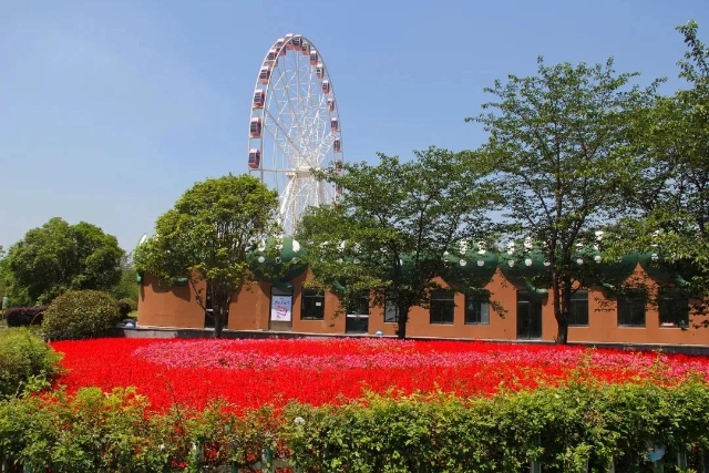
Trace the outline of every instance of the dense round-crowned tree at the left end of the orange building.
<instances>
[{"instance_id":1,"label":"dense round-crowned tree at the left end of the orange building","mask_svg":"<svg viewBox=\"0 0 709 473\"><path fill-rule=\"evenodd\" d=\"M203 309L210 299L220 337L232 297L253 280L249 251L277 233L277 193L248 175L196 183L157 219L155 236L135 250L135 266L165 281L187 278Z\"/></svg>"}]
</instances>

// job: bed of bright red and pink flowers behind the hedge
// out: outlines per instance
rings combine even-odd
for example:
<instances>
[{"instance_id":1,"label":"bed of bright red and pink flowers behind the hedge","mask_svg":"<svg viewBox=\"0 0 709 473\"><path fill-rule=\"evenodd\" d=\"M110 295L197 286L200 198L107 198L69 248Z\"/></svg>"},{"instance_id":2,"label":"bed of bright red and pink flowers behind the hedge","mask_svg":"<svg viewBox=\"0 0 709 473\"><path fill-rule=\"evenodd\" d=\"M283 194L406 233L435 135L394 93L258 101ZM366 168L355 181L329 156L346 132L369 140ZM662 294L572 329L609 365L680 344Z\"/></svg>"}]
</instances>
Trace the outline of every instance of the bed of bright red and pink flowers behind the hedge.
<instances>
[{"instance_id":1,"label":"bed of bright red and pink flowers behind the hedge","mask_svg":"<svg viewBox=\"0 0 709 473\"><path fill-rule=\"evenodd\" d=\"M239 408L297 400L342 403L366 391L489 395L556 385L572 377L600 382L709 378L709 358L460 341L379 338L295 340L96 339L60 341L69 392L134 385L157 411L197 409L223 399Z\"/></svg>"}]
</instances>

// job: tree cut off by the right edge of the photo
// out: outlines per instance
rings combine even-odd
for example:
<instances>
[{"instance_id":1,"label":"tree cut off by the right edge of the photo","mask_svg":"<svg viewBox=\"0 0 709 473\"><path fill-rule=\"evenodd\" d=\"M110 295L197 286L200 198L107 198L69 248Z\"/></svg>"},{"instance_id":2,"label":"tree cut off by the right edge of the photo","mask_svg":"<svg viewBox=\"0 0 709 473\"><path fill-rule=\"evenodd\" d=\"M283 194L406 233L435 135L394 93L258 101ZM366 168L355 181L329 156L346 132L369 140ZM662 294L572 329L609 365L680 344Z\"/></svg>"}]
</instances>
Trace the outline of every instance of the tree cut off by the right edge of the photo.
<instances>
[{"instance_id":1,"label":"tree cut off by the right edge of the photo","mask_svg":"<svg viewBox=\"0 0 709 473\"><path fill-rule=\"evenodd\" d=\"M688 49L679 76L688 89L658 97L638 121L635 152L643 179L626 194L633 218L613 230L616 250L659 248L659 265L686 277L685 289L709 297L709 47L690 21L677 30ZM630 237L630 238L628 238Z\"/></svg>"}]
</instances>

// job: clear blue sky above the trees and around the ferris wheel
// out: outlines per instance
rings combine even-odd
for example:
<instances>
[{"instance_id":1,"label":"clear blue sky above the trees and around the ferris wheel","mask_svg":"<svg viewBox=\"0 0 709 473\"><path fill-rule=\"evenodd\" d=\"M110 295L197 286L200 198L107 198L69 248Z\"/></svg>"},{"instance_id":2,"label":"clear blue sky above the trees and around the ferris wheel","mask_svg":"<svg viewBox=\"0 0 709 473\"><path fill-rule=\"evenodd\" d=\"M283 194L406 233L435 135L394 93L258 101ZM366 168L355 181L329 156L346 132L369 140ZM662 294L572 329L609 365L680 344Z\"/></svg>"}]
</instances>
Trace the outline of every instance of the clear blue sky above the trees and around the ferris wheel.
<instances>
[{"instance_id":1,"label":"clear blue sky above the trees and around the ferris wheel","mask_svg":"<svg viewBox=\"0 0 709 473\"><path fill-rule=\"evenodd\" d=\"M707 0L4 1L0 245L53 216L131 250L195 182L247 171L256 75L273 42L309 38L337 92L345 158L474 148L483 86L536 56L684 84L675 27Z\"/></svg>"}]
</instances>

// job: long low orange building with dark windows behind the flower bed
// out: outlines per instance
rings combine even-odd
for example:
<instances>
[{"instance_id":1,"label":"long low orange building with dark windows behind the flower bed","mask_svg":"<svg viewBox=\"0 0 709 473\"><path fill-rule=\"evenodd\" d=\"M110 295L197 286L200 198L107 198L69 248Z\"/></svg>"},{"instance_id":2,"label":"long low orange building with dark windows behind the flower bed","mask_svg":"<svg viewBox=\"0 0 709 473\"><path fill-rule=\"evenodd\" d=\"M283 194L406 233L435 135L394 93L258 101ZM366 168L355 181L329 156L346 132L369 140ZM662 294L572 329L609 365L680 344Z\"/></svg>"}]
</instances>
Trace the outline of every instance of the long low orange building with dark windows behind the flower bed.
<instances>
[{"instance_id":1,"label":"long low orange building with dark windows behind the flower bed","mask_svg":"<svg viewBox=\"0 0 709 473\"><path fill-rule=\"evenodd\" d=\"M281 255L271 260L259 257L257 263L295 261L299 248L294 248L291 241L285 243ZM579 257L578 264L594 264L594 258L596 263L600 261L594 255L584 257L586 261ZM411 310L407 336L553 341L557 326L552 296L544 288L533 287L527 279L530 271L533 273L535 267L538 270L543 261L532 254L518 260L522 263L515 266L511 255L484 250L453 257L453 264L463 266L465 263L471 270L486 275L485 289L499 305L497 309L472 296L440 290L433 295L429 309L415 307ZM658 286L667 278L654 269L650 260L650 255L630 255L608 266L607 270L616 282L641 278L650 290L661 290L657 302L648 304L637 294L609 296L604 287L580 289L572 300L568 341L709 345L709 328L699 327L709 319L691 313L691 300L679 288ZM255 273L260 274L258 268ZM230 305L226 330L395 333L395 310L368 307L364 299L360 307L342 313L335 289L319 292L304 287L304 282L311 278L310 271L302 266L291 270L287 279L269 281L263 278L248 285ZM140 279L138 327L209 326L209 315L197 304L189 286L161 287L150 275Z\"/></svg>"}]
</instances>

